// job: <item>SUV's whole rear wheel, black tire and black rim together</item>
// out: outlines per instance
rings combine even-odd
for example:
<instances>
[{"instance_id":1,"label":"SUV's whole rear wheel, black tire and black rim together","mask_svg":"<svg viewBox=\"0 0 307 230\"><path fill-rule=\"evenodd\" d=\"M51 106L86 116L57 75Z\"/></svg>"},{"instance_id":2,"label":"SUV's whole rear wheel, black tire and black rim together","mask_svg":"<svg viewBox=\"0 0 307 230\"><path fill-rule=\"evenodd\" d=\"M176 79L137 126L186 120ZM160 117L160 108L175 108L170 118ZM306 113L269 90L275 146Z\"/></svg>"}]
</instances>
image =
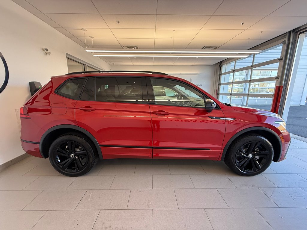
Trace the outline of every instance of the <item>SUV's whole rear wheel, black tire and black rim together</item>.
<instances>
[{"instance_id":1,"label":"SUV's whole rear wheel, black tire and black rim together","mask_svg":"<svg viewBox=\"0 0 307 230\"><path fill-rule=\"evenodd\" d=\"M90 140L80 134L68 133L52 142L49 160L59 173L76 177L90 171L98 157Z\"/></svg>"}]
</instances>

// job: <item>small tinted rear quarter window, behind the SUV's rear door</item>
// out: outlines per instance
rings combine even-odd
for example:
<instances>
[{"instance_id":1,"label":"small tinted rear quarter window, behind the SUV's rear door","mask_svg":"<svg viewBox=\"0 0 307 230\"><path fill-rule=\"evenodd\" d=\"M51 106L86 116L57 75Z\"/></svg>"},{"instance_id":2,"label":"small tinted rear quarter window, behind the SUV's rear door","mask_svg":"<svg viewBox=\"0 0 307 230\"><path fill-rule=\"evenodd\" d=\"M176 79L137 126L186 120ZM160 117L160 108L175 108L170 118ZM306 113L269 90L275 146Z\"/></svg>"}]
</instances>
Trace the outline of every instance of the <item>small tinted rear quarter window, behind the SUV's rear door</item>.
<instances>
[{"instance_id":1,"label":"small tinted rear quarter window, behind the SUV's rear door","mask_svg":"<svg viewBox=\"0 0 307 230\"><path fill-rule=\"evenodd\" d=\"M85 78L70 79L60 87L57 93L66 98L78 100L84 81Z\"/></svg>"}]
</instances>

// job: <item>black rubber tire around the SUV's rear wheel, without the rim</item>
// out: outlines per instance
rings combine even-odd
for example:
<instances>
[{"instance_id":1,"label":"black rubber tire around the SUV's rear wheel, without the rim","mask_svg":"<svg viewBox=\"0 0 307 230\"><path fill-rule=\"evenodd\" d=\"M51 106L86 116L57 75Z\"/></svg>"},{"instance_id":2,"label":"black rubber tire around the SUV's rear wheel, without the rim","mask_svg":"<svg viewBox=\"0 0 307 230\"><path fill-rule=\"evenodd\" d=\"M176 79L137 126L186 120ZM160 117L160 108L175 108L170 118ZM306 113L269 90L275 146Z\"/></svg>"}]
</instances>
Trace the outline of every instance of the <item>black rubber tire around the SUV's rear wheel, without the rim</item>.
<instances>
[{"instance_id":1,"label":"black rubber tire around the SUV's rear wheel, without the rim","mask_svg":"<svg viewBox=\"0 0 307 230\"><path fill-rule=\"evenodd\" d=\"M78 144L82 145L82 147L85 149L85 151L87 151L87 154L88 154L88 160L87 160L86 166L81 171L75 172L75 173L65 172L65 171L60 170L60 168L57 166L57 164L55 162L55 155L53 153L54 148L59 143L65 142L65 141L69 141L69 140L70 141L75 141ZM49 155L49 161L50 161L52 167L54 167L54 169L56 171L58 171L61 174L66 175L66 176L72 176L72 177L80 176L80 175L83 175L83 174L87 173L91 169L92 162L94 160L94 151L93 151L93 148L91 147L90 143L87 142L87 140L85 140L84 138L79 137L79 136L74 136L74 135L60 136L55 141L53 141L52 144L50 145L49 154L48 155Z\"/></svg>"}]
</instances>

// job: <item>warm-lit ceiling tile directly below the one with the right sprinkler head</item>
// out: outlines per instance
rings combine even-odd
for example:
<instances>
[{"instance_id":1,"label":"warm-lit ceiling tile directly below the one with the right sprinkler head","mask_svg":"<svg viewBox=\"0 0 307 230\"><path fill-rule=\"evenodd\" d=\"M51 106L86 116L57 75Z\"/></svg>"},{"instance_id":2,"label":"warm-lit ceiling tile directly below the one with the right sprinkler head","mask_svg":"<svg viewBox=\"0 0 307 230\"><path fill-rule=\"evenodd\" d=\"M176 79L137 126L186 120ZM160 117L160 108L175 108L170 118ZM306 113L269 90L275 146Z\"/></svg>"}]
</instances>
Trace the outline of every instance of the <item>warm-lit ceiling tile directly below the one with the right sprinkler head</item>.
<instances>
[{"instance_id":1,"label":"warm-lit ceiling tile directly below the one with the right sprinkler head","mask_svg":"<svg viewBox=\"0 0 307 230\"><path fill-rule=\"evenodd\" d=\"M201 29L195 38L201 39L231 39L242 33L244 30L239 29Z\"/></svg>"}]
</instances>

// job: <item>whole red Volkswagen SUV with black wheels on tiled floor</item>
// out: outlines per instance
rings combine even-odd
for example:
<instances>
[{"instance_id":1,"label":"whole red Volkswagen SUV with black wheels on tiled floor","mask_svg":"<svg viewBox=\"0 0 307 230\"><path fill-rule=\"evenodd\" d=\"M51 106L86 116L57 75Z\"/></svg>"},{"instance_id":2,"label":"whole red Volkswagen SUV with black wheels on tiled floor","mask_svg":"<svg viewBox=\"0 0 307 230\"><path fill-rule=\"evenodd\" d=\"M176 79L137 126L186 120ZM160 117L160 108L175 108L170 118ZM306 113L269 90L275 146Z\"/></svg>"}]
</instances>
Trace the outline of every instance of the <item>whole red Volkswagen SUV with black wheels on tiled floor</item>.
<instances>
[{"instance_id":1,"label":"whole red Volkswagen SUV with black wheels on tiled floor","mask_svg":"<svg viewBox=\"0 0 307 230\"><path fill-rule=\"evenodd\" d=\"M184 79L146 71L52 77L20 109L21 144L61 174L98 159L209 159L252 176L286 158L284 120L233 106Z\"/></svg>"}]
</instances>

